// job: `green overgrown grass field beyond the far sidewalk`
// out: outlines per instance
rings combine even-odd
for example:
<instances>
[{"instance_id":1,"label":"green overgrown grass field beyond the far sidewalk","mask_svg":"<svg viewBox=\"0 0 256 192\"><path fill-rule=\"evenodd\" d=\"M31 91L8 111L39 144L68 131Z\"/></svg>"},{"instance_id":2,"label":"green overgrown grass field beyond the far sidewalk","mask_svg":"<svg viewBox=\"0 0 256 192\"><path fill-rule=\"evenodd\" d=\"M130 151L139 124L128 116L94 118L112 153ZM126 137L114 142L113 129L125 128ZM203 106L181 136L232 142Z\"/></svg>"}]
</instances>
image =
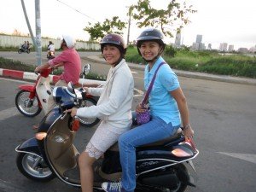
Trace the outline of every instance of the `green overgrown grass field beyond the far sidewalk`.
<instances>
[{"instance_id":1,"label":"green overgrown grass field beyond the far sidewalk","mask_svg":"<svg viewBox=\"0 0 256 192\"><path fill-rule=\"evenodd\" d=\"M163 55L166 62L174 69L247 77L256 79L256 57L247 55L219 55L214 51L191 51L176 49L174 57ZM129 47L125 59L128 62L143 63L137 54L137 48Z\"/></svg>"}]
</instances>

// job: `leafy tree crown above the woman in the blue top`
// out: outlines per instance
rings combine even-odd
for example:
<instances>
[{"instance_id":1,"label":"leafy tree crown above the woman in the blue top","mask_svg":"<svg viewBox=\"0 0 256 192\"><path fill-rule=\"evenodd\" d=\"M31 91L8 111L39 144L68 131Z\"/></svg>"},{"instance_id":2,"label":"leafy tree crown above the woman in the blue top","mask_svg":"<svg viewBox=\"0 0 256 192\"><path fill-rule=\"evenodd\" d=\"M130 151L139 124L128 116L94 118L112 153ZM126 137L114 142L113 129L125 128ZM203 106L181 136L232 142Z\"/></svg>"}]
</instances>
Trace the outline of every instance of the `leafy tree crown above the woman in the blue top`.
<instances>
[{"instance_id":1,"label":"leafy tree crown above the woman in the blue top","mask_svg":"<svg viewBox=\"0 0 256 192\"><path fill-rule=\"evenodd\" d=\"M196 10L186 2L179 3L172 0L166 9L154 9L150 5L150 0L138 0L136 5L131 5L131 16L137 20L137 26L152 26L160 28L167 36L173 37L172 31L180 32L184 25L190 22L188 15L194 14Z\"/></svg>"}]
</instances>

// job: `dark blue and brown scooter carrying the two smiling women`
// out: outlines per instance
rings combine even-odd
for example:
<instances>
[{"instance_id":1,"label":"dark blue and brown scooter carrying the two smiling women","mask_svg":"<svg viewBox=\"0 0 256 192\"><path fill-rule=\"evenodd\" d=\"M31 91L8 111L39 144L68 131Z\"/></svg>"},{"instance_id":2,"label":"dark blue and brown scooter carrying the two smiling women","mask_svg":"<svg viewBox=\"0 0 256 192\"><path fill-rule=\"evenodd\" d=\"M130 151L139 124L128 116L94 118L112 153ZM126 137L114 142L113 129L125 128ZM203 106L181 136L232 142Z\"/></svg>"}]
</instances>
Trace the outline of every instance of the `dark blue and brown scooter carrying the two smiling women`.
<instances>
[{"instance_id":1,"label":"dark blue and brown scooter carrying the two smiling women","mask_svg":"<svg viewBox=\"0 0 256 192\"><path fill-rule=\"evenodd\" d=\"M42 120L36 137L20 144L16 164L20 172L35 181L49 181L58 177L64 183L80 187L78 155L74 146L75 133L79 128L79 118L63 113L77 105L84 96L68 87L53 90L54 108ZM136 119L135 119L136 120ZM137 148L137 189L136 191L184 191L188 185L194 186L185 164L193 170L192 160L199 154L193 144L185 142L182 132L173 137ZM94 189L102 190L105 181L119 181L121 166L119 148L114 144L94 165Z\"/></svg>"}]
</instances>

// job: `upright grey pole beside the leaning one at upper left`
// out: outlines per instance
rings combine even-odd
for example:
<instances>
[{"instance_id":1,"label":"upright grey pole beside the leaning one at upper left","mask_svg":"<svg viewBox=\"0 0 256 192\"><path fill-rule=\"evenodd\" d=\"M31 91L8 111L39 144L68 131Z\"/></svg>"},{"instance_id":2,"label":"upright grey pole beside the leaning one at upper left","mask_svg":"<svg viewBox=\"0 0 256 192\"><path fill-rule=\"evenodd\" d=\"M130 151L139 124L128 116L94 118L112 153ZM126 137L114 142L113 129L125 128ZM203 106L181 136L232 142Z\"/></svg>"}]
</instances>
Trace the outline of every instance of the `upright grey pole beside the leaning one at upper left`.
<instances>
[{"instance_id":1,"label":"upright grey pole beside the leaning one at upper left","mask_svg":"<svg viewBox=\"0 0 256 192\"><path fill-rule=\"evenodd\" d=\"M36 42L38 46L37 64L42 65L42 44L41 44L41 17L40 17L40 0L35 1L36 10Z\"/></svg>"}]
</instances>

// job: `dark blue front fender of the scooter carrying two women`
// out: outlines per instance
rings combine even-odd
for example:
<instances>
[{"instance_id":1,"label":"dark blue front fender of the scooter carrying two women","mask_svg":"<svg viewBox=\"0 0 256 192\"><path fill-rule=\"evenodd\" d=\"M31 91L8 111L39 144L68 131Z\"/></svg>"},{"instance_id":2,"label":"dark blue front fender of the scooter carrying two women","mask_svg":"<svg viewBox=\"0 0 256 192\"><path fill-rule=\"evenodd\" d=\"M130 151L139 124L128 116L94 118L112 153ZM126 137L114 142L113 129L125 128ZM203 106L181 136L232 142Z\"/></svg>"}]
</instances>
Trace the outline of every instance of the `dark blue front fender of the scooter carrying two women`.
<instances>
[{"instance_id":1,"label":"dark blue front fender of the scooter carrying two women","mask_svg":"<svg viewBox=\"0 0 256 192\"><path fill-rule=\"evenodd\" d=\"M15 151L18 153L37 154L42 156L38 148L38 141L34 137L26 140L24 143L21 143L17 148L15 148Z\"/></svg>"}]
</instances>

